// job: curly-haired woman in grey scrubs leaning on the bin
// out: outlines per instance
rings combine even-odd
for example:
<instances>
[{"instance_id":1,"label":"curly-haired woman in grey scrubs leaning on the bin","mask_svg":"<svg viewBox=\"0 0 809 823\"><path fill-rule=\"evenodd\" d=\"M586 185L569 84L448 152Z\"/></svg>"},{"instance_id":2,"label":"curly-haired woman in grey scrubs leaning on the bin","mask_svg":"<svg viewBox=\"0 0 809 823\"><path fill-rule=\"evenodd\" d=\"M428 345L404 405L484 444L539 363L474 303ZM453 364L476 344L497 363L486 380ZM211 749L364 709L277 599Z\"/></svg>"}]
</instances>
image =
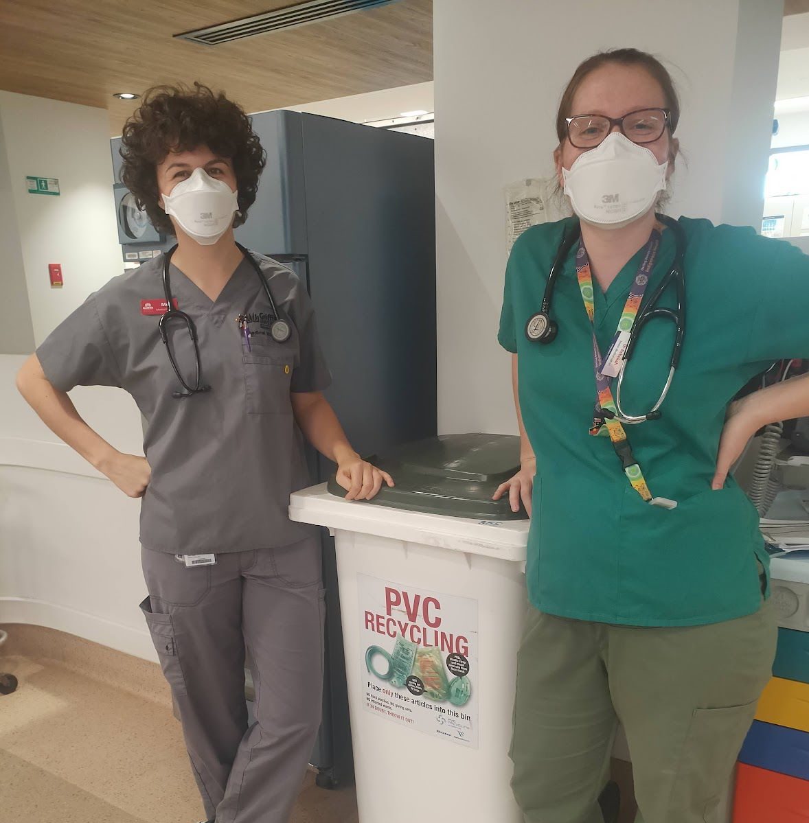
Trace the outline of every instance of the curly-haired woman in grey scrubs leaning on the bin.
<instances>
[{"instance_id":1,"label":"curly-haired woman in grey scrubs leaning on the bin","mask_svg":"<svg viewBox=\"0 0 809 823\"><path fill-rule=\"evenodd\" d=\"M308 481L299 431L338 464L349 500L392 481L354 452L321 393L330 374L305 287L233 238L264 168L246 114L199 84L154 89L124 127L122 156L124 183L177 238L167 274L183 314L163 316L161 255L90 295L17 385L51 430L143 497L141 608L208 818L285 823L323 681L320 541L287 514ZM67 395L77 385L132 394L147 421L145 458L82 420Z\"/></svg>"}]
</instances>

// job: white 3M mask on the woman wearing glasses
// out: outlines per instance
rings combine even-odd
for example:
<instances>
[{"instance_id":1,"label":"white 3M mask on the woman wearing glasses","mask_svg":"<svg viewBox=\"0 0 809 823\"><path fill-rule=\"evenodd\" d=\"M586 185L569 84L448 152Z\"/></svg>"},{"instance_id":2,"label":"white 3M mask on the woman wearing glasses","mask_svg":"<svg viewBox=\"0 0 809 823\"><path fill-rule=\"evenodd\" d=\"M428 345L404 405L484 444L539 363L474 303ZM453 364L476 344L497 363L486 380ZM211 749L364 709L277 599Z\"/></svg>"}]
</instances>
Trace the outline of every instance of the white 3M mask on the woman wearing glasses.
<instances>
[{"instance_id":1,"label":"white 3M mask on the woman wearing glasses","mask_svg":"<svg viewBox=\"0 0 809 823\"><path fill-rule=\"evenodd\" d=\"M613 132L562 170L564 193L583 221L618 229L654 206L667 168L648 148Z\"/></svg>"}]
</instances>

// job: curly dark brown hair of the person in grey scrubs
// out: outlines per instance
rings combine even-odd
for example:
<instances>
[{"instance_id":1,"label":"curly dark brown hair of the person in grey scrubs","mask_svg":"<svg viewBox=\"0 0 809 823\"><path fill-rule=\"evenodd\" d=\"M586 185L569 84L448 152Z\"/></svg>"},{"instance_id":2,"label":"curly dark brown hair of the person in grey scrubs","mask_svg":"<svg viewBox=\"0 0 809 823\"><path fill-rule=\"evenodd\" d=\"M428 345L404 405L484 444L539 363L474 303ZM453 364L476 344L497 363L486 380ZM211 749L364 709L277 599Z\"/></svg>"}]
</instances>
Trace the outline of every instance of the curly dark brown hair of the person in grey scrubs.
<instances>
[{"instance_id":1,"label":"curly dark brown hair of the person in grey scrubs","mask_svg":"<svg viewBox=\"0 0 809 823\"><path fill-rule=\"evenodd\" d=\"M228 100L222 91L215 94L197 82L194 88L154 86L145 92L143 103L124 125L121 181L135 196L138 207L146 209L152 226L164 235L175 231L160 205L157 165L170 151L192 151L197 146L208 146L231 160L241 212L233 225L241 226L255 202L267 155L240 105Z\"/></svg>"}]
</instances>

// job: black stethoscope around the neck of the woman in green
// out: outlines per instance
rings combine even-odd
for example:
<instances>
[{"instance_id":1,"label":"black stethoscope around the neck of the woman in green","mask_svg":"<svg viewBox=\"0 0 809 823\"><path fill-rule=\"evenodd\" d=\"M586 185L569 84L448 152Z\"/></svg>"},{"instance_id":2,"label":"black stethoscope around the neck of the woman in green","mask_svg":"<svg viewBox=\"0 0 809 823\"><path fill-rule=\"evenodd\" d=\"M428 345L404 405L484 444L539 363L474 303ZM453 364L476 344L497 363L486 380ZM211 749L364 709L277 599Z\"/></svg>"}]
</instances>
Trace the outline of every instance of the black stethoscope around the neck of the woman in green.
<instances>
[{"instance_id":1,"label":"black stethoscope around the neck of the woman in green","mask_svg":"<svg viewBox=\"0 0 809 823\"><path fill-rule=\"evenodd\" d=\"M683 338L685 337L685 272L683 272L683 258L685 257L685 233L683 232L680 224L671 217L658 214L657 220L661 221L664 226L674 232L676 239L676 251L674 254L674 261L671 263L671 267L666 273L666 277L663 277L662 281L660 281L657 289L652 292L652 295L646 301L646 305L643 306L643 309L641 309L638 317L635 319L634 325L629 334L629 342L627 344L626 351L624 352L624 362L621 365L620 373L618 375L618 383L615 387L614 398L615 408L618 414L615 415L615 418L621 423L628 423L631 425L643 423L648 420L660 419L660 407L666 400L666 395L669 393L669 389L671 388L671 381L674 379L674 373L677 370L677 366L680 365L680 352L682 351ZM556 286L556 281L559 278L559 274L563 269L564 262L568 258L570 250L573 249L573 245L577 243L578 239L581 237L581 234L582 226L577 222L571 230L565 230L562 235L562 242L559 244L559 250L556 253L554 264L548 275L548 281L545 284L545 294L542 297L542 309L537 314L534 314L526 324L526 337L528 337L531 342L540 342L547 345L548 343L554 342L556 336L559 334L559 324L550 317L550 305L554 295L554 286ZM676 309L668 309L663 306L658 307L657 301L660 300L663 292L665 292L671 284L671 281L675 282L677 307ZM652 406L650 412L645 415L629 415L624 412L620 400L621 389L624 386L626 366L634 354L635 346L638 345L638 337L640 337L640 332L643 331L643 328L650 320L657 317L671 320L671 322L676 326L676 336L674 340L674 348L671 351L668 379L666 379L666 385L663 387L660 398L658 398L657 402L654 406ZM606 416L611 416L609 411L604 409L601 409L600 411L604 412Z\"/></svg>"}]
</instances>

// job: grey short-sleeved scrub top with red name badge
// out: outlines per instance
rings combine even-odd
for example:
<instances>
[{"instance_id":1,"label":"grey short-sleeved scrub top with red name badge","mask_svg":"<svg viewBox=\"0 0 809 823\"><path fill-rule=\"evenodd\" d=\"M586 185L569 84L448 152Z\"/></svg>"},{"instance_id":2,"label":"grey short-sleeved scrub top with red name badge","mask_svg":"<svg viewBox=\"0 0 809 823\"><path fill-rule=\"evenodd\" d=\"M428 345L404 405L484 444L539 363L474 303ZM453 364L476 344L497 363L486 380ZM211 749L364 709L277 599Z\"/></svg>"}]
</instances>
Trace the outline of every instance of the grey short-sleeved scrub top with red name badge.
<instances>
[{"instance_id":1,"label":"grey short-sleeved scrub top with red name badge","mask_svg":"<svg viewBox=\"0 0 809 823\"><path fill-rule=\"evenodd\" d=\"M292 491L309 482L290 392L331 382L306 288L293 272L255 254L292 337L274 342L274 319L255 270L242 260L215 302L171 266L175 304L197 328L207 393L177 399L181 386L161 341L163 257L115 277L74 311L36 351L44 374L64 392L77 385L118 386L147 421L143 448L152 481L143 497L144 547L206 554L287 546L311 527L292 523ZM159 310L159 309L158 309ZM250 347L236 322L250 321ZM189 386L194 346L185 323L168 324L175 359Z\"/></svg>"}]
</instances>

